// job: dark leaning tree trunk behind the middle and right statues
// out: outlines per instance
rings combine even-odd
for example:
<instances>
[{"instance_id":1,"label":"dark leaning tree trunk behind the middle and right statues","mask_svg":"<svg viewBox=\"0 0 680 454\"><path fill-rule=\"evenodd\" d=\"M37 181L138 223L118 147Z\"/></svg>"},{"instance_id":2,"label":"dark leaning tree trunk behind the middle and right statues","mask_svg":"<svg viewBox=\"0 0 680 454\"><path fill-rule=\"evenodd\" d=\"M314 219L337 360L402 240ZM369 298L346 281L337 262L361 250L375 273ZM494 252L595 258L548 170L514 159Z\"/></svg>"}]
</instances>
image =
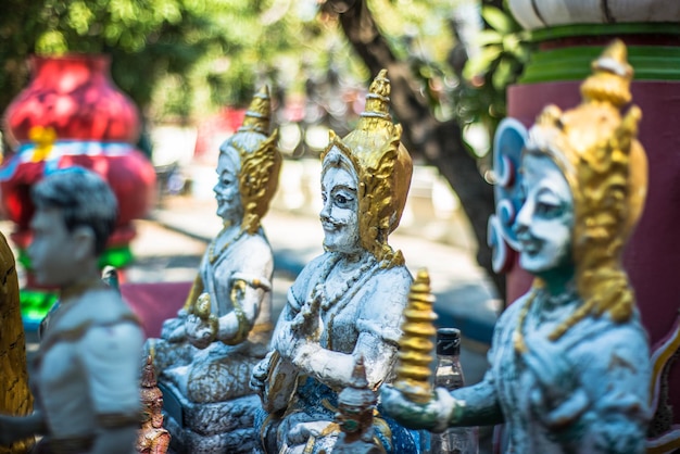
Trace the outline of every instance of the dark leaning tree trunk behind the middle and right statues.
<instances>
[{"instance_id":1,"label":"dark leaning tree trunk behind the middle and right statues","mask_svg":"<svg viewBox=\"0 0 680 454\"><path fill-rule=\"evenodd\" d=\"M392 53L380 34L365 0L329 0L339 13L348 40L373 75L388 70L392 85L392 109L404 127L404 144L414 157L436 166L461 199L479 249L477 261L493 280L501 298L505 295L505 278L493 273L491 251L487 247L487 223L494 212L493 187L481 177L477 159L463 142L461 126L455 121L440 122L420 94L411 66Z\"/></svg>"}]
</instances>

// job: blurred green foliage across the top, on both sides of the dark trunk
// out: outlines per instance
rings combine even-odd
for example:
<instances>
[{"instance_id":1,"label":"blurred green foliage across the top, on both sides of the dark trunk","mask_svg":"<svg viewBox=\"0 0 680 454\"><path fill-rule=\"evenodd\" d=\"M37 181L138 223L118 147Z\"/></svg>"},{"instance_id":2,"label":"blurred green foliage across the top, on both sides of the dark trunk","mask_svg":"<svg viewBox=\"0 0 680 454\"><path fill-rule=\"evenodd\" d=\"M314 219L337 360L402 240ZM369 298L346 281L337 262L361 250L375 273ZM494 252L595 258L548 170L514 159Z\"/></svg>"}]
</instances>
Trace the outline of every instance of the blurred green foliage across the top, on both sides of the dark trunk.
<instances>
[{"instance_id":1,"label":"blurred green foliage across the top, on both sides of the dark trunk","mask_svg":"<svg viewBox=\"0 0 680 454\"><path fill-rule=\"evenodd\" d=\"M437 117L493 128L527 60L526 36L508 13L486 7L482 50L456 68L454 5L368 0ZM264 83L290 94L331 73L360 86L368 77L337 18L314 0L3 0L0 41L1 111L26 85L32 53L110 53L114 81L161 121L243 105Z\"/></svg>"}]
</instances>

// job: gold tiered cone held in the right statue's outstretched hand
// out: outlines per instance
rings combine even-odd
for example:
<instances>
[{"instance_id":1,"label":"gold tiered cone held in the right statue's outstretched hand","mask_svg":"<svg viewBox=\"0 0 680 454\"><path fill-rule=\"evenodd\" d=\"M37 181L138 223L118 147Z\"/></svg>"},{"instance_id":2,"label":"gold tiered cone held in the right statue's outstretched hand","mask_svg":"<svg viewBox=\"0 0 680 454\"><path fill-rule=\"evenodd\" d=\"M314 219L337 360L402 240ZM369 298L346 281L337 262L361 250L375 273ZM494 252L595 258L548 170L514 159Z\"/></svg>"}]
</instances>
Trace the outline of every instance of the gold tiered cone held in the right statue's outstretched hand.
<instances>
[{"instance_id":1,"label":"gold tiered cone held in the right statue's outstretched hand","mask_svg":"<svg viewBox=\"0 0 680 454\"><path fill-rule=\"evenodd\" d=\"M437 335L433 303L430 276L427 269L420 269L411 286L408 305L404 311L404 333L399 340L399 363L394 380L394 388L416 403L429 402L432 396L430 364L435 343L431 339Z\"/></svg>"}]
</instances>

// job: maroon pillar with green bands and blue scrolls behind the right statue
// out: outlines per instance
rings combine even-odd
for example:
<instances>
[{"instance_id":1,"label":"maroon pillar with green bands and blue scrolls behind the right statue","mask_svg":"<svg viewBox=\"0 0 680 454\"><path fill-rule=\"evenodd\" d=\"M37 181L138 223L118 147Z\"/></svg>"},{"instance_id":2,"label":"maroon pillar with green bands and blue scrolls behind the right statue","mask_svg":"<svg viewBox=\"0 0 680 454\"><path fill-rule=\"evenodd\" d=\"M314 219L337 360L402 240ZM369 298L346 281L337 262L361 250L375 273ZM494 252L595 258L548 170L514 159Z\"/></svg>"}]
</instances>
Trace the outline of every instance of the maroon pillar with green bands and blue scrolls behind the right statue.
<instances>
[{"instance_id":1,"label":"maroon pillar with green bands and blue scrolls behind the right statue","mask_svg":"<svg viewBox=\"0 0 680 454\"><path fill-rule=\"evenodd\" d=\"M680 346L680 3L509 0L509 8L531 31L538 50L519 83L508 89L508 118L494 143L498 210L490 242L495 268L507 274L508 302L528 290L530 277L517 266L511 228L517 209L517 143L524 142L524 128L546 104L562 109L578 104L580 80L590 73L590 62L606 43L621 39L634 71L632 103L642 110L639 140L648 156L646 204L627 247L625 265L655 361L651 399L657 415L650 429L650 452L670 452L680 447L680 362L673 362ZM675 413L667 404L673 405Z\"/></svg>"}]
</instances>

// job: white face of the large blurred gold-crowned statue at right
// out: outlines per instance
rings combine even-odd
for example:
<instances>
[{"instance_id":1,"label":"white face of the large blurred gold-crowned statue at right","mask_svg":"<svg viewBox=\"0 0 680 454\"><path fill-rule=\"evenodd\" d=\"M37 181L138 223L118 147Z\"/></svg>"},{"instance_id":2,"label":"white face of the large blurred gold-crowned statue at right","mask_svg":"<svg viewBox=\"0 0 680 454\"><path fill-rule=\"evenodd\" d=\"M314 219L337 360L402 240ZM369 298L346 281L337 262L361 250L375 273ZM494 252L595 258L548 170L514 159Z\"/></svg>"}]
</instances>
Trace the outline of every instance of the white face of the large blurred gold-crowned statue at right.
<instances>
[{"instance_id":1,"label":"white face of the large blurred gold-crowned statue at right","mask_svg":"<svg viewBox=\"0 0 680 454\"><path fill-rule=\"evenodd\" d=\"M519 266L546 277L570 273L574 197L557 165L547 156L522 159L524 203L515 220Z\"/></svg>"}]
</instances>

